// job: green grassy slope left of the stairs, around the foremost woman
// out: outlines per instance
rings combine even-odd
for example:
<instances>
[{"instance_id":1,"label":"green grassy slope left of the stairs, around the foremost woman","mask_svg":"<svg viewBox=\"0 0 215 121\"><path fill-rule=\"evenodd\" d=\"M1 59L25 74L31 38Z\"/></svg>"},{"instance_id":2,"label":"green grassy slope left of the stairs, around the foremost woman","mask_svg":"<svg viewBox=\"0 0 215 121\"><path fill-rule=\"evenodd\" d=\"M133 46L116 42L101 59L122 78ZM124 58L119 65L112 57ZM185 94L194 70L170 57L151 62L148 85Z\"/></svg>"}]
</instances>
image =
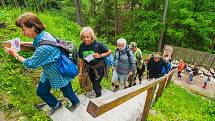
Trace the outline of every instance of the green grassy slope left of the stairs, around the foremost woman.
<instances>
[{"instance_id":1,"label":"green grassy slope left of the stairs, around the foremost woman","mask_svg":"<svg viewBox=\"0 0 215 121\"><path fill-rule=\"evenodd\" d=\"M18 27L15 26L15 20L24 11L22 10L0 10L0 22L6 23L6 28L0 29L0 43L6 40L20 37L22 41L32 41L24 37ZM80 27L73 22L68 21L62 16L55 16L54 13L38 13L39 18L46 24L46 30L66 40L70 40L77 46L80 45L79 33ZM32 53L20 52L24 57L30 57ZM41 99L36 96L36 85L40 78L41 69L25 69L15 58L5 54L0 49L0 109L6 112L7 118L19 119L27 116L33 121L50 120L45 112L36 109L35 105L41 103ZM73 88L81 93L78 80L73 80ZM62 98L62 93L54 91L58 98Z\"/></svg>"}]
</instances>

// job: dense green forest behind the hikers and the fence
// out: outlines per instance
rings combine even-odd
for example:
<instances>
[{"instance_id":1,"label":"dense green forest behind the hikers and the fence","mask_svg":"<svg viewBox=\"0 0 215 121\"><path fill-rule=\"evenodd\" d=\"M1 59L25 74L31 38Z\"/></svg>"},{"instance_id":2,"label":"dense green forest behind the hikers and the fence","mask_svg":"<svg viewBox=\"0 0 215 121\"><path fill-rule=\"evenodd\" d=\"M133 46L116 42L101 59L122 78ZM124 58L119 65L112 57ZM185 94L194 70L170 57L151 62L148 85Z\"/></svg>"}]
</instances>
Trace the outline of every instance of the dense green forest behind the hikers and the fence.
<instances>
[{"instance_id":1,"label":"dense green forest behind the hikers and the fence","mask_svg":"<svg viewBox=\"0 0 215 121\"><path fill-rule=\"evenodd\" d=\"M214 0L1 0L2 7L56 11L115 44L119 37L142 50L165 44L215 53ZM166 9L165 9L166 8Z\"/></svg>"}]
</instances>

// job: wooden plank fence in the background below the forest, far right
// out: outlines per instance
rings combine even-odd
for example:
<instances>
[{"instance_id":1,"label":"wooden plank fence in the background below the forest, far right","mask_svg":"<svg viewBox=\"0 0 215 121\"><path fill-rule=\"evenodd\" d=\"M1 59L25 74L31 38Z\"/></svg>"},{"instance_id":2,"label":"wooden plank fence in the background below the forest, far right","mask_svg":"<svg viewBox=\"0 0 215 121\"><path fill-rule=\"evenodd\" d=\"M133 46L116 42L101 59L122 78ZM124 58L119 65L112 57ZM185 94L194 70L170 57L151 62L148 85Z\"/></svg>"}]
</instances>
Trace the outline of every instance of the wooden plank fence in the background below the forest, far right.
<instances>
[{"instance_id":1,"label":"wooden plank fence in the background below the forest, far right","mask_svg":"<svg viewBox=\"0 0 215 121\"><path fill-rule=\"evenodd\" d=\"M172 45L168 46L171 46L173 48L172 58L174 59L183 59L185 63L197 63L197 65L215 69L215 54L188 48L176 47Z\"/></svg>"}]
</instances>

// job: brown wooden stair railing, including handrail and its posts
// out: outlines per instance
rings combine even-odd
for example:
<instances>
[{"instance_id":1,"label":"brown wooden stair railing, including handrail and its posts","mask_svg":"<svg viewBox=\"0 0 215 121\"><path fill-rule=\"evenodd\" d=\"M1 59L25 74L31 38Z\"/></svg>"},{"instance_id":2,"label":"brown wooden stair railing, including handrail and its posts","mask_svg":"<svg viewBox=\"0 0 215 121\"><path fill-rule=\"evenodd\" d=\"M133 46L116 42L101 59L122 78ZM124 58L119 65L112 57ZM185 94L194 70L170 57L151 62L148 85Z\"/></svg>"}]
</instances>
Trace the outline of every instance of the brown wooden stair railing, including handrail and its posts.
<instances>
[{"instance_id":1,"label":"brown wooden stair railing, including handrail and its posts","mask_svg":"<svg viewBox=\"0 0 215 121\"><path fill-rule=\"evenodd\" d=\"M147 90L147 96L142 115L142 121L145 121L151 108L154 95L156 95L155 101L157 101L161 96L164 88L167 87L167 85L171 81L173 73L174 70L172 70L167 76L148 81L140 87L125 89L123 93L115 92L113 95L109 95L107 97L92 99L88 104L87 112L90 113L93 117L97 117ZM155 92L157 85L158 89Z\"/></svg>"}]
</instances>

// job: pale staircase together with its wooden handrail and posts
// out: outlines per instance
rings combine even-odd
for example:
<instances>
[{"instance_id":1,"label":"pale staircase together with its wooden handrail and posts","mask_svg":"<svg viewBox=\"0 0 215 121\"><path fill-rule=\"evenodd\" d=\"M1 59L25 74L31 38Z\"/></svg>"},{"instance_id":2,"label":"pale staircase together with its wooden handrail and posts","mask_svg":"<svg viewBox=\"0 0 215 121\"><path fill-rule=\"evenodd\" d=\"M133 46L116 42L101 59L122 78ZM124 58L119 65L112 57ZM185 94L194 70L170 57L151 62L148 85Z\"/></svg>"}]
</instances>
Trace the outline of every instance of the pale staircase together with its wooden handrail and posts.
<instances>
[{"instance_id":1,"label":"pale staircase together with its wooden handrail and posts","mask_svg":"<svg viewBox=\"0 0 215 121\"><path fill-rule=\"evenodd\" d=\"M81 104L73 112L65 107L57 110L53 121L144 121L152 102L158 100L169 84L174 70L162 78L112 92L102 90L102 96L90 99L79 95Z\"/></svg>"}]
</instances>

